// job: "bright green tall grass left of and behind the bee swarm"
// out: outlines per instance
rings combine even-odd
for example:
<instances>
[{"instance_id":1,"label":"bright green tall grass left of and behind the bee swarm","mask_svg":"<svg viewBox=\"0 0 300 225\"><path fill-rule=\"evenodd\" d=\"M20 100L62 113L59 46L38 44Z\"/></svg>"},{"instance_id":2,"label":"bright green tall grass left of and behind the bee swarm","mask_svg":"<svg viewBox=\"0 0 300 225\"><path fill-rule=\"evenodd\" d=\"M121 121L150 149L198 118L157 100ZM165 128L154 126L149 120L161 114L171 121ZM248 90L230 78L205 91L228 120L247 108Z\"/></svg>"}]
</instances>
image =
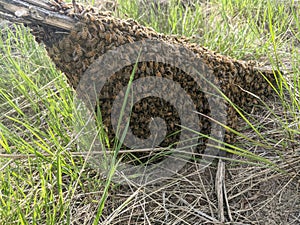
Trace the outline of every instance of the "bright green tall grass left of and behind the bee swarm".
<instances>
[{"instance_id":1,"label":"bright green tall grass left of and behind the bee swarm","mask_svg":"<svg viewBox=\"0 0 300 225\"><path fill-rule=\"evenodd\" d=\"M269 103L264 107L273 119L262 125L263 115L245 115L262 136L264 147L284 159L287 152L299 150L300 141L300 13L296 4L212 0L187 7L173 0L159 6L122 0L115 14L159 32L184 35L234 58L288 70L278 77L281 88L275 105L280 110ZM95 175L85 157L75 154L73 90L28 29L5 26L1 36L0 224L74 224L79 218L72 210L99 201L95 214L81 219L101 223L112 184ZM253 135L251 126L246 124L245 132ZM257 144L257 136L248 138L254 141L232 149L247 152ZM87 197L94 192L100 197Z\"/></svg>"}]
</instances>

